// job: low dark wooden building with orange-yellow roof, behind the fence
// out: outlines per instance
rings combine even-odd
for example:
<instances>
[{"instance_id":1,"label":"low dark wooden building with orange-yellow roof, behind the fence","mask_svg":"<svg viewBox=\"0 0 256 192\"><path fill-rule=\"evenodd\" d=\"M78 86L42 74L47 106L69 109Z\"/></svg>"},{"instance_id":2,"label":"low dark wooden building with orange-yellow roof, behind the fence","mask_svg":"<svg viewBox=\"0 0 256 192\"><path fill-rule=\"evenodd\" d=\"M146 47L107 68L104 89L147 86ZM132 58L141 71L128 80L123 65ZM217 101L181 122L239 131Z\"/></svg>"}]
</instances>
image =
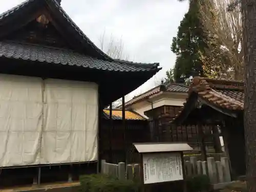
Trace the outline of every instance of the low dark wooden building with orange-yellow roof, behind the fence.
<instances>
[{"instance_id":1,"label":"low dark wooden building with orange-yellow roof, behind the fence","mask_svg":"<svg viewBox=\"0 0 256 192\"><path fill-rule=\"evenodd\" d=\"M100 158L110 163L139 163L139 153L133 143L149 142L148 121L139 114L125 111L125 130L122 123L122 111L113 110L112 125L110 110L104 110L102 129L100 130ZM123 134L125 131L125 140Z\"/></svg>"}]
</instances>

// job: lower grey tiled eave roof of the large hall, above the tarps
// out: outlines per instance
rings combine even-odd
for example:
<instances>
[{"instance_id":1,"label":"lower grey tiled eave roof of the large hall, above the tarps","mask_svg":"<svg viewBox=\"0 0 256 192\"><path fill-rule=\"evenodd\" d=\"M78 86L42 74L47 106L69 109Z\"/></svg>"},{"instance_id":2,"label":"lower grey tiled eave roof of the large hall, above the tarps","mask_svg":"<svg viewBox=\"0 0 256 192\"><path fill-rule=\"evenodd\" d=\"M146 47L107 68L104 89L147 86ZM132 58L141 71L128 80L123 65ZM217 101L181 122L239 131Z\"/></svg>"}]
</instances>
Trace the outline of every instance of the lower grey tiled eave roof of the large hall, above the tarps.
<instances>
[{"instance_id":1,"label":"lower grey tiled eave roof of the large hall, above the tarps","mask_svg":"<svg viewBox=\"0 0 256 192\"><path fill-rule=\"evenodd\" d=\"M17 42L0 41L0 57L24 59L48 63L61 63L62 65L81 66L84 68L100 69L108 71L151 71L155 70L152 65L127 64L117 61L106 61L67 49L42 47Z\"/></svg>"}]
</instances>

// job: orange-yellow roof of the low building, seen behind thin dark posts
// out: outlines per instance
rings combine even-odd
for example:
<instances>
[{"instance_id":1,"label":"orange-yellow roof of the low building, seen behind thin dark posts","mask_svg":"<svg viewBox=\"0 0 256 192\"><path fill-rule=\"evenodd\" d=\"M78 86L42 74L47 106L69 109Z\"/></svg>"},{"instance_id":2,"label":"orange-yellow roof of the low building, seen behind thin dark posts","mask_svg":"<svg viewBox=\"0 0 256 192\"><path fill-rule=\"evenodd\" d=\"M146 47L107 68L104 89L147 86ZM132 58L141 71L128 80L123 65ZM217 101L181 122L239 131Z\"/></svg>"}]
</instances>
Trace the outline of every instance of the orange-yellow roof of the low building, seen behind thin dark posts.
<instances>
[{"instance_id":1,"label":"orange-yellow roof of the low building, seen behind thin dark posts","mask_svg":"<svg viewBox=\"0 0 256 192\"><path fill-rule=\"evenodd\" d=\"M105 119L110 118L110 110L103 110L103 116ZM112 110L112 119L113 120L122 120L122 110L113 109ZM136 112L125 110L125 119L126 120L146 120Z\"/></svg>"}]
</instances>

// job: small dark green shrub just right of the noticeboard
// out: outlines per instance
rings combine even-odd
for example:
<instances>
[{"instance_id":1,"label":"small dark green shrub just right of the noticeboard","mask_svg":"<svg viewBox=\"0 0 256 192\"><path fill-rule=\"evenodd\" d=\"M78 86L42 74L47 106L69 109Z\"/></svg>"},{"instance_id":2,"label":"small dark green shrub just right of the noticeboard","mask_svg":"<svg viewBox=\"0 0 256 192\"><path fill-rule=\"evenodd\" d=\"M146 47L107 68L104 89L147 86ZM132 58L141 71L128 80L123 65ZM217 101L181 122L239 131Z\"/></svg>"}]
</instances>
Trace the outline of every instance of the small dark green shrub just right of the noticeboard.
<instances>
[{"instance_id":1,"label":"small dark green shrub just right of the noticeboard","mask_svg":"<svg viewBox=\"0 0 256 192\"><path fill-rule=\"evenodd\" d=\"M189 192L209 191L209 177L207 175L196 175L187 178L187 189Z\"/></svg>"}]
</instances>

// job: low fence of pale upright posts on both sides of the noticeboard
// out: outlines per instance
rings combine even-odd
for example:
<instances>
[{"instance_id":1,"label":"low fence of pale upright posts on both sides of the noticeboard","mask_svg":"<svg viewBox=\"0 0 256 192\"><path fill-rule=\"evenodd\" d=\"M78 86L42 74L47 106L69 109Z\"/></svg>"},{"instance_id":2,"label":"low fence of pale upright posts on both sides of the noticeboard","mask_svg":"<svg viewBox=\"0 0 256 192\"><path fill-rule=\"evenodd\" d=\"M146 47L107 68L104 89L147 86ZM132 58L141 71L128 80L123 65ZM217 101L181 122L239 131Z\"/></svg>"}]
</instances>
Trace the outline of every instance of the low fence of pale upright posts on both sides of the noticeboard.
<instances>
[{"instance_id":1,"label":"low fence of pale upright posts on both sides of the noticeboard","mask_svg":"<svg viewBox=\"0 0 256 192\"><path fill-rule=\"evenodd\" d=\"M197 161L196 157L190 157L184 162L186 176L208 175L210 183L230 182L230 168L227 157L221 157L220 161L215 161L214 157L208 157L207 161ZM139 164L126 165L125 163L106 163L101 160L101 173L118 177L119 179L140 179Z\"/></svg>"}]
</instances>

